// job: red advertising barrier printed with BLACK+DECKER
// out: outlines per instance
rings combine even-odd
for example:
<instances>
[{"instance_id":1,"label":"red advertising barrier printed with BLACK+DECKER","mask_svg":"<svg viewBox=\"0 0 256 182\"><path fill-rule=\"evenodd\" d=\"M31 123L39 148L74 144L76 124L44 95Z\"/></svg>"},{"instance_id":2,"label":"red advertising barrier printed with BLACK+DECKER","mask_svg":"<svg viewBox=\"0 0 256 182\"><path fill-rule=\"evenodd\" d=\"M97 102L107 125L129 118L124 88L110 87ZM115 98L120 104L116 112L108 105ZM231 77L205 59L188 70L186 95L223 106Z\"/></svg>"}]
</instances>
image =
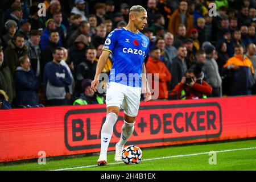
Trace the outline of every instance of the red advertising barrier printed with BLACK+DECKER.
<instances>
[{"instance_id":1,"label":"red advertising barrier printed with BLACK+DECKER","mask_svg":"<svg viewBox=\"0 0 256 182\"><path fill-rule=\"evenodd\" d=\"M139 147L256 137L256 96L141 103L126 144ZM105 105L0 110L0 162L100 151ZM123 123L115 124L114 150Z\"/></svg>"}]
</instances>

